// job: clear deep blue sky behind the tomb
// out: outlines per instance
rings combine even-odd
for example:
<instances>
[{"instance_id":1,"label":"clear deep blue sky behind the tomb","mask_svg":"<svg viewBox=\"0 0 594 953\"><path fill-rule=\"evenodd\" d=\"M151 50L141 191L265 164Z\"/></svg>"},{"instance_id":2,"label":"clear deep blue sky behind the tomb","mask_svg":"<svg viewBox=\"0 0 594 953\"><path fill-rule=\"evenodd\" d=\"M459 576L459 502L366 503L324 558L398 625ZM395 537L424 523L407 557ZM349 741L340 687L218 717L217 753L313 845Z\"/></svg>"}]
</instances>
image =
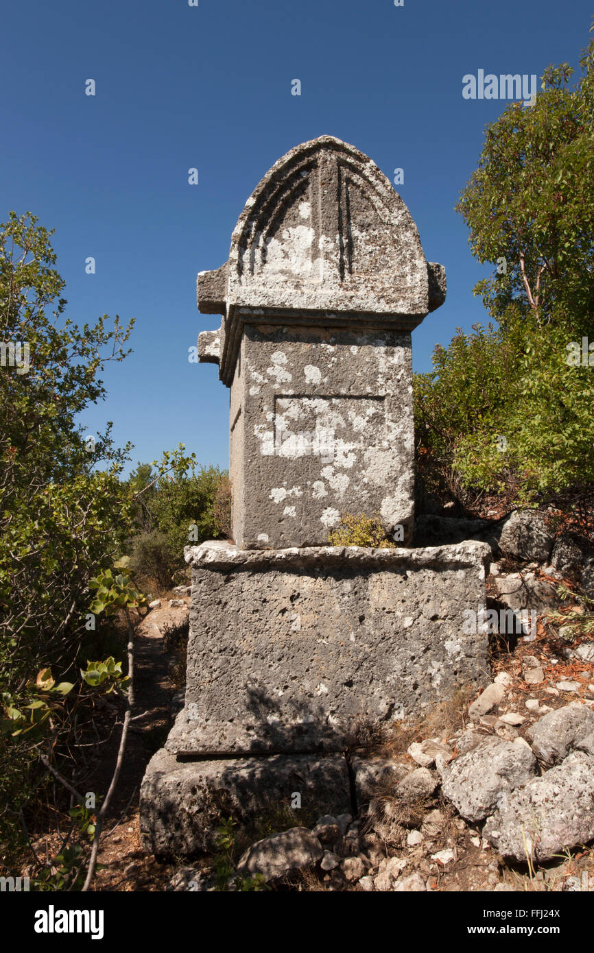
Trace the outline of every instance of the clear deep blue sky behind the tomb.
<instances>
[{"instance_id":1,"label":"clear deep blue sky behind the tomb","mask_svg":"<svg viewBox=\"0 0 594 953\"><path fill-rule=\"evenodd\" d=\"M77 323L136 318L133 354L108 366L108 400L84 414L86 431L113 420L133 464L181 441L227 466L228 391L215 365L188 362L198 332L217 325L197 312L195 276L226 260L264 172L322 133L390 178L404 170L398 191L448 278L445 305L413 335L415 368L428 370L437 342L484 320L472 295L482 270L454 205L505 104L464 100L462 76L577 67L591 12L587 0L5 4L1 218L29 210L55 229Z\"/></svg>"}]
</instances>

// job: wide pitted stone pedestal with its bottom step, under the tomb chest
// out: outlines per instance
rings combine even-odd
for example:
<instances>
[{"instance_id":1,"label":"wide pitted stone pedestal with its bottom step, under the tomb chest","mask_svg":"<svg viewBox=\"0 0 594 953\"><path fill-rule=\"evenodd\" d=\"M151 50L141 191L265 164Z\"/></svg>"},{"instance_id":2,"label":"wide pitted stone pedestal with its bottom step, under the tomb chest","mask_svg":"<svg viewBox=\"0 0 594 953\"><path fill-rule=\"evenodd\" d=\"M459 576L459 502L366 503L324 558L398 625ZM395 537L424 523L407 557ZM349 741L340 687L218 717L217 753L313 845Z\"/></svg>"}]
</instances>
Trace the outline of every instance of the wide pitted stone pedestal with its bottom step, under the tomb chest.
<instances>
[{"instance_id":1,"label":"wide pitted stone pedestal with its bottom step, under the tomb chest","mask_svg":"<svg viewBox=\"0 0 594 953\"><path fill-rule=\"evenodd\" d=\"M213 846L221 818L352 810L343 752L488 681L481 542L423 549L188 547L183 711L142 783L145 848ZM478 627L480 629L480 626Z\"/></svg>"}]
</instances>

